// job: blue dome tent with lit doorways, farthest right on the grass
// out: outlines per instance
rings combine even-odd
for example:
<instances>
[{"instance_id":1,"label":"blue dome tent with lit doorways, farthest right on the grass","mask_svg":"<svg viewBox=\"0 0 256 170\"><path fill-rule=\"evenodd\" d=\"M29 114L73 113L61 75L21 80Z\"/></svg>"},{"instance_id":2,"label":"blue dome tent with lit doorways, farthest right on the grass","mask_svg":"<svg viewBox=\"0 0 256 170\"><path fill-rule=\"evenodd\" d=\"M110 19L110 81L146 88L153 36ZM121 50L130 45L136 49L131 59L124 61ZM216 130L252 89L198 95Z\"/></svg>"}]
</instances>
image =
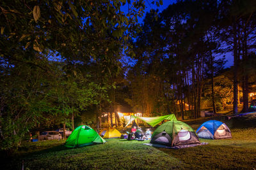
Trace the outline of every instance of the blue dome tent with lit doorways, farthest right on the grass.
<instances>
[{"instance_id":1,"label":"blue dome tent with lit doorways, farthest right on the grass","mask_svg":"<svg viewBox=\"0 0 256 170\"><path fill-rule=\"evenodd\" d=\"M209 120L200 125L196 130L199 138L205 139L225 139L232 138L227 125L218 120Z\"/></svg>"}]
</instances>

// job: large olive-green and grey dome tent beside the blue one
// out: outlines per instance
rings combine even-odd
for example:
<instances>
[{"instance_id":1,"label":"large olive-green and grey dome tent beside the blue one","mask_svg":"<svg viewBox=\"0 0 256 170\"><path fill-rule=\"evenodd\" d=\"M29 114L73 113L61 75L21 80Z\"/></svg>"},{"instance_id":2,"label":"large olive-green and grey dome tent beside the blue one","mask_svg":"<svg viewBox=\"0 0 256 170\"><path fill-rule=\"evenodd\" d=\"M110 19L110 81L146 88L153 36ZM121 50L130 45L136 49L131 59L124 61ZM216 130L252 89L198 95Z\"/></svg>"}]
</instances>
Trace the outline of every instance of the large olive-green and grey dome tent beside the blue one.
<instances>
[{"instance_id":1,"label":"large olive-green and grey dome tent beside the blue one","mask_svg":"<svg viewBox=\"0 0 256 170\"><path fill-rule=\"evenodd\" d=\"M150 140L152 144L166 146L190 145L200 143L195 131L184 122L169 121L157 127Z\"/></svg>"}]
</instances>

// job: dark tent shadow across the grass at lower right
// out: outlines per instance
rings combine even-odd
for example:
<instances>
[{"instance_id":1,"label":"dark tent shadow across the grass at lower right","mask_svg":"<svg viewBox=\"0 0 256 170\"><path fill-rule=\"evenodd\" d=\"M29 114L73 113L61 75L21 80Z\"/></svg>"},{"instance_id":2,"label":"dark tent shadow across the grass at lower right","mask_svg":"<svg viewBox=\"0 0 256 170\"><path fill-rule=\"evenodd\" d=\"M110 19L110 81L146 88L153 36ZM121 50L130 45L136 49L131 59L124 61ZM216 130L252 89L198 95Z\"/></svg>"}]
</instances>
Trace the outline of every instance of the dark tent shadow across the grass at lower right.
<instances>
[{"instance_id":1,"label":"dark tent shadow across the grass at lower right","mask_svg":"<svg viewBox=\"0 0 256 170\"><path fill-rule=\"evenodd\" d=\"M156 149L184 162L185 169L252 169L256 166L256 149L241 146L205 145L177 150Z\"/></svg>"}]
</instances>

